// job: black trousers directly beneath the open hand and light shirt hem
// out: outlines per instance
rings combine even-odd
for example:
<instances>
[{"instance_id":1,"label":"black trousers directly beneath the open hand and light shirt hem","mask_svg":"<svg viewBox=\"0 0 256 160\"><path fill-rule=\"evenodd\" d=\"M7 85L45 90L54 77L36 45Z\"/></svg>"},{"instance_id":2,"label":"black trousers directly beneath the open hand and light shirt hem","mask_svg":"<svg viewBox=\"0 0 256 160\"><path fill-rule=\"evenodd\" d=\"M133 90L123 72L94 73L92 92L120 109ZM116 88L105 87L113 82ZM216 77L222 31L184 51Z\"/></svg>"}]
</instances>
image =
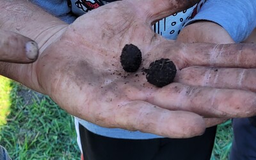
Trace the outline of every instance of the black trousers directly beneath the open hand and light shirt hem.
<instances>
[{"instance_id":1,"label":"black trousers directly beneath the open hand and light shirt hem","mask_svg":"<svg viewBox=\"0 0 256 160\"><path fill-rule=\"evenodd\" d=\"M84 160L209 160L216 126L188 139L127 140L108 138L79 124Z\"/></svg>"}]
</instances>

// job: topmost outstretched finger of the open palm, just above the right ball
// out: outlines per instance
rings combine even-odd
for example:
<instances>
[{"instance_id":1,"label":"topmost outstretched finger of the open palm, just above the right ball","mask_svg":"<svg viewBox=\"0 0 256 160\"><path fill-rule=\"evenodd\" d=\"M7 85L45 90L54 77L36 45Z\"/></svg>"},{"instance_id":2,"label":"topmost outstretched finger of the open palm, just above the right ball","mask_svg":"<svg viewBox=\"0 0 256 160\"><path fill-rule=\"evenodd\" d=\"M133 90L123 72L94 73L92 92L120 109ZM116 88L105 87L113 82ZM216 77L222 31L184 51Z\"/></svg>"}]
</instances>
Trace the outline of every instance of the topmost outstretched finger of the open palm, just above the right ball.
<instances>
[{"instance_id":1,"label":"topmost outstretched finger of the open palm, just above the right ball","mask_svg":"<svg viewBox=\"0 0 256 160\"><path fill-rule=\"evenodd\" d=\"M147 54L155 54L156 59L169 58L179 69L189 66L255 68L255 51L255 44L183 44L164 40Z\"/></svg>"}]
</instances>

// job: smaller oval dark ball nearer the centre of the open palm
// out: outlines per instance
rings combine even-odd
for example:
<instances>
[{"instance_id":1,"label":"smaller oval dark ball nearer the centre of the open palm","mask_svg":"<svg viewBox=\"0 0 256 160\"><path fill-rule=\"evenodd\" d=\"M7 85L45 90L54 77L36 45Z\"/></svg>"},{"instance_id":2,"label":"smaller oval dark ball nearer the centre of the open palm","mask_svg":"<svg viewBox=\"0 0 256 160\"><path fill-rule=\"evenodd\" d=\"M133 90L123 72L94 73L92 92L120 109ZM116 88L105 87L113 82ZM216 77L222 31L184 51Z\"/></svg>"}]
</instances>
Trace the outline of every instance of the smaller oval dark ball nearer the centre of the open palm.
<instances>
[{"instance_id":1,"label":"smaller oval dark ball nearer the centre of the open palm","mask_svg":"<svg viewBox=\"0 0 256 160\"><path fill-rule=\"evenodd\" d=\"M141 51L136 45L126 44L120 56L120 62L126 72L136 72L141 65Z\"/></svg>"}]
</instances>

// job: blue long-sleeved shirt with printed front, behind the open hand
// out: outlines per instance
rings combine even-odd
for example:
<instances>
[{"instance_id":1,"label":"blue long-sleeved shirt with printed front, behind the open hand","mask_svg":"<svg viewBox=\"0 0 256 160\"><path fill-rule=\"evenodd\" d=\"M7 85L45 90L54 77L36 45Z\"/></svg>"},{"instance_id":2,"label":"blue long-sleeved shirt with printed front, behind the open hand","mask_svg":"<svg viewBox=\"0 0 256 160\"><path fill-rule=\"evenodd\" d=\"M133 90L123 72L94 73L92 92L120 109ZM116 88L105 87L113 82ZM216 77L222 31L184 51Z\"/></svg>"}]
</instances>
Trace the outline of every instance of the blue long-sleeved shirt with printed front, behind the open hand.
<instances>
[{"instance_id":1,"label":"blue long-sleeved shirt with printed front, behind the open hand","mask_svg":"<svg viewBox=\"0 0 256 160\"><path fill-rule=\"evenodd\" d=\"M34 3L42 6L48 12L52 13L56 17L60 17L60 19L65 20L66 22L72 22L76 17L74 15L70 15L70 11L76 14L83 14L86 13L88 8L84 8L81 6L81 0L72 0L71 7L68 6L66 0L33 0ZM95 4L96 0L88 0L88 3ZM76 7L77 5L77 7ZM101 4L99 4L101 5ZM92 5L89 5L92 6ZM214 6L214 7L212 7ZM195 6L194 6L195 8ZM90 10L92 8L89 8ZM193 8L186 10L187 13L190 13L190 18L193 13ZM178 13L179 14L179 13ZM175 15L172 15L175 16ZM235 42L241 42L244 40L248 35L250 35L253 28L256 26L256 1L255 0L208 0L202 6L202 9L195 17L188 21L187 24L191 22L195 22L195 20L209 20L212 22L216 22L220 24L223 28L227 30L230 36L234 39ZM175 22L179 22L179 28L181 29L184 26L184 20L189 20L189 17L184 17L181 19L177 19ZM166 20L166 19L165 19ZM165 31L166 28L161 26L166 26L166 22L164 20L159 21L160 27L156 25L155 31L160 35L168 39L175 39L179 33L178 29L172 29L172 22L168 26L168 31ZM173 21L174 22L174 21ZM164 24L164 25L163 25ZM176 24L176 23L175 23ZM170 31L170 29L172 29ZM176 33L176 36L172 36L172 31ZM128 139L151 139L151 138L159 138L161 136L157 136L154 134L148 134L143 132L131 132L126 131L124 129L108 129L104 127L100 127L95 124L91 124L90 122L86 122L77 118L80 124L82 124L86 129L89 131L94 132L95 134L100 134L102 136L109 136L113 138L128 138Z\"/></svg>"}]
</instances>

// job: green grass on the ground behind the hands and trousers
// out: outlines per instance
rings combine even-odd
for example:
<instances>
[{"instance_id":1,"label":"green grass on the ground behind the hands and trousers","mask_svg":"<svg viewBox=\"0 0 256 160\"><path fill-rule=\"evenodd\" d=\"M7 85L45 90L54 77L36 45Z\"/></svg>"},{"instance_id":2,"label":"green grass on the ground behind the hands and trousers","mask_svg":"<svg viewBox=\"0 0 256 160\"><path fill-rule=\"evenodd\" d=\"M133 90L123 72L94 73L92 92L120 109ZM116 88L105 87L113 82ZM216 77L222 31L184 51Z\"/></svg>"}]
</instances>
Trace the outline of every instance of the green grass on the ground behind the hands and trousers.
<instances>
[{"instance_id":1,"label":"green grass on the ground behind the hands and trousers","mask_svg":"<svg viewBox=\"0 0 256 160\"><path fill-rule=\"evenodd\" d=\"M13 160L80 159L74 119L49 97L0 76L0 144ZM226 160L230 120L218 125L211 160Z\"/></svg>"}]
</instances>

